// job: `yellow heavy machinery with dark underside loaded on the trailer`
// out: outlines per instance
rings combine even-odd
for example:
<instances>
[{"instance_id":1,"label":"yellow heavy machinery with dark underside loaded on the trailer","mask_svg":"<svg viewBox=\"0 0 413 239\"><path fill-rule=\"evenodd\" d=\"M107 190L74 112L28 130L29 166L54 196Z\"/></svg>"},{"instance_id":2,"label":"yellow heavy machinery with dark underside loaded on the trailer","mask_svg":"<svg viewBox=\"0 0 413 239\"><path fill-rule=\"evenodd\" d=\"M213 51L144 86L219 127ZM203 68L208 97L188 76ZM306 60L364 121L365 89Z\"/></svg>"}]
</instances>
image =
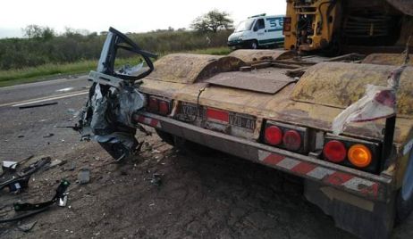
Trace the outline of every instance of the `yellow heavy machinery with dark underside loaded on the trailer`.
<instances>
[{"instance_id":1,"label":"yellow heavy machinery with dark underside loaded on the trailer","mask_svg":"<svg viewBox=\"0 0 413 239\"><path fill-rule=\"evenodd\" d=\"M412 15L409 0L287 0L284 48L400 53L413 33Z\"/></svg>"}]
</instances>

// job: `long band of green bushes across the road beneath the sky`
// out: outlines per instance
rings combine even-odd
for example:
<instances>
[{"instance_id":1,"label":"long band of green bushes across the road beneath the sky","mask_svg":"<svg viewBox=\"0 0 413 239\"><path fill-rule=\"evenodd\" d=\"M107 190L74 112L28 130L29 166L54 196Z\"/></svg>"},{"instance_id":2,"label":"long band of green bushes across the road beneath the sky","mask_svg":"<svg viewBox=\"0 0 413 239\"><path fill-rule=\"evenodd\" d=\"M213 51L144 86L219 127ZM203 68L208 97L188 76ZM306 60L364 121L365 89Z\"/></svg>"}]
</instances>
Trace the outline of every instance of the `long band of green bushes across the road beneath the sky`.
<instances>
[{"instance_id":1,"label":"long band of green bushes across the road beneath the sky","mask_svg":"<svg viewBox=\"0 0 413 239\"><path fill-rule=\"evenodd\" d=\"M207 34L185 30L160 30L128 34L128 37L142 49L156 54L166 54L226 46L230 34L230 30ZM88 36L74 33L46 38L0 39L0 70L97 60L104 41L105 36L98 36L96 33ZM126 53L121 54L121 57L128 56Z\"/></svg>"}]
</instances>

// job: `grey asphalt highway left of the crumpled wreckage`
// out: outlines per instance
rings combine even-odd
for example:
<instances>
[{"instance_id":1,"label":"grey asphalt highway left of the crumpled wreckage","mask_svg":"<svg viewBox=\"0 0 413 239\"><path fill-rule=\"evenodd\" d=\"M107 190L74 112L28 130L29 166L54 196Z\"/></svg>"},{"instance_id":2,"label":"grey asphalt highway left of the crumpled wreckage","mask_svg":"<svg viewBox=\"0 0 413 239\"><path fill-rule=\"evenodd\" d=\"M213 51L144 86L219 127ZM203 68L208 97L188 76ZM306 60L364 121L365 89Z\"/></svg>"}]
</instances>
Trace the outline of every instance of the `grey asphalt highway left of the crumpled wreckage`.
<instances>
[{"instance_id":1,"label":"grey asphalt highway left of the crumpled wreckage","mask_svg":"<svg viewBox=\"0 0 413 239\"><path fill-rule=\"evenodd\" d=\"M74 115L87 100L86 77L56 79L0 88L0 160L19 161L30 154L57 155L80 144L71 128ZM57 103L19 109L32 103Z\"/></svg>"}]
</instances>

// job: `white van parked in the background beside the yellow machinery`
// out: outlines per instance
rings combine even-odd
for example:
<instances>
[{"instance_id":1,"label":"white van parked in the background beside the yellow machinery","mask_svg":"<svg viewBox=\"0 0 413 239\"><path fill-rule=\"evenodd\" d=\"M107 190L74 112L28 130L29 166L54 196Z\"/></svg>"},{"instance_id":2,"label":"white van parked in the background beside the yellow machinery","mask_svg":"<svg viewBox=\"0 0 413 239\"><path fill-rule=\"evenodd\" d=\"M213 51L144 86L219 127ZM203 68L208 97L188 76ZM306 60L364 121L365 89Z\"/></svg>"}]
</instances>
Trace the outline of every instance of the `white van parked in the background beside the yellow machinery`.
<instances>
[{"instance_id":1,"label":"white van parked in the background beside the yellow machinery","mask_svg":"<svg viewBox=\"0 0 413 239\"><path fill-rule=\"evenodd\" d=\"M260 46L278 45L284 41L282 23L284 15L260 14L241 21L228 37L228 46L257 49Z\"/></svg>"}]
</instances>

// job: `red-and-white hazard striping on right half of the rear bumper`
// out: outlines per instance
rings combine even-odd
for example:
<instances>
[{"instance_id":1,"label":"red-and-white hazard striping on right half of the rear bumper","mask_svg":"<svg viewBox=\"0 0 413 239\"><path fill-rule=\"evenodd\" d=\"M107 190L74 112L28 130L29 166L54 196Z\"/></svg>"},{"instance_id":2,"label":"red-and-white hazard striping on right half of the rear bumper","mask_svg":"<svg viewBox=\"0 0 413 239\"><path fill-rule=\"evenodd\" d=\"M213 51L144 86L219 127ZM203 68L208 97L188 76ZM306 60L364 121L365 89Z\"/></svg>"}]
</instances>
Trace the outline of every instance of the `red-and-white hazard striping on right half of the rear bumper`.
<instances>
[{"instance_id":1,"label":"red-and-white hazard striping on right half of the rear bumper","mask_svg":"<svg viewBox=\"0 0 413 239\"><path fill-rule=\"evenodd\" d=\"M358 194L376 198L379 184L349 173L327 169L307 161L299 161L274 152L258 150L258 160L275 169L290 171L293 174L322 181L328 185L342 186Z\"/></svg>"}]
</instances>

